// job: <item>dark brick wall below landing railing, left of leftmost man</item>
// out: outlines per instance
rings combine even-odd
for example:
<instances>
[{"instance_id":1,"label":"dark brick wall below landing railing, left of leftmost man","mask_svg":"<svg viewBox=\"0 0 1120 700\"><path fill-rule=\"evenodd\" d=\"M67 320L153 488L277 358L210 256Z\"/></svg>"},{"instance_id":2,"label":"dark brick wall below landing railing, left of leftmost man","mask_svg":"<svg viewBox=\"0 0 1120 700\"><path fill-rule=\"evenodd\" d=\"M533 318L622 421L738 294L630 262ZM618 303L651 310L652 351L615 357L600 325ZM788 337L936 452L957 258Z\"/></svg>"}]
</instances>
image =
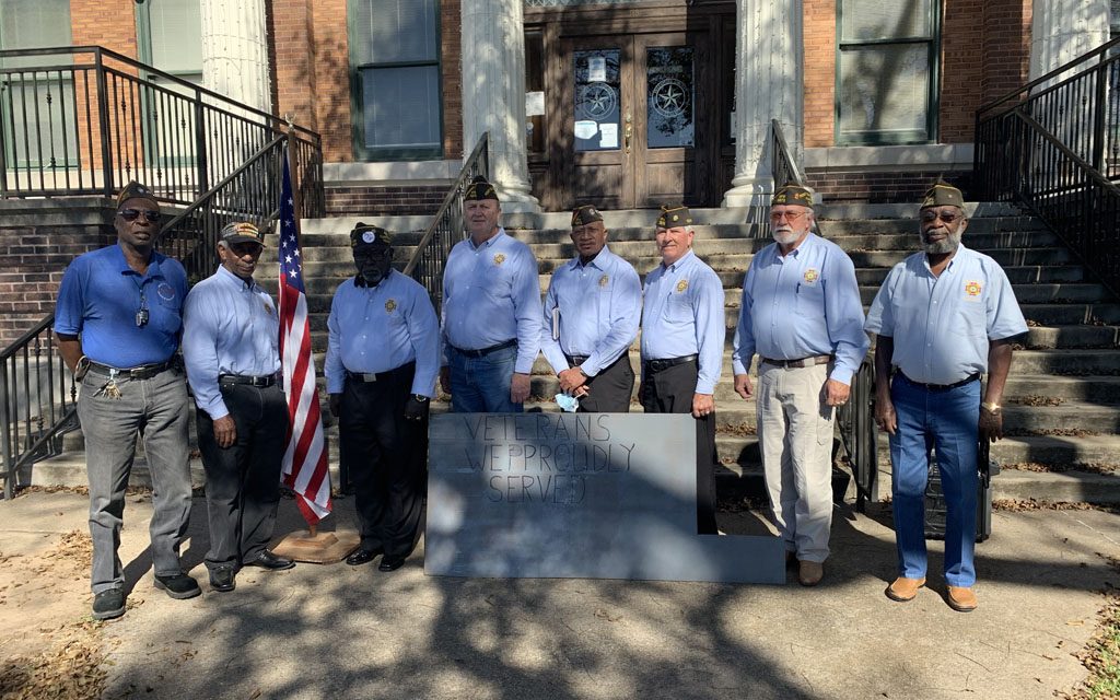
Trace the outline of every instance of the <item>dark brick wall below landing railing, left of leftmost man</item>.
<instances>
[{"instance_id":1,"label":"dark brick wall below landing railing, left of leftmost man","mask_svg":"<svg viewBox=\"0 0 1120 700\"><path fill-rule=\"evenodd\" d=\"M77 255L116 240L112 207L57 215L4 214L0 224L0 347L55 310L63 272ZM49 222L49 223L39 223Z\"/></svg>"}]
</instances>

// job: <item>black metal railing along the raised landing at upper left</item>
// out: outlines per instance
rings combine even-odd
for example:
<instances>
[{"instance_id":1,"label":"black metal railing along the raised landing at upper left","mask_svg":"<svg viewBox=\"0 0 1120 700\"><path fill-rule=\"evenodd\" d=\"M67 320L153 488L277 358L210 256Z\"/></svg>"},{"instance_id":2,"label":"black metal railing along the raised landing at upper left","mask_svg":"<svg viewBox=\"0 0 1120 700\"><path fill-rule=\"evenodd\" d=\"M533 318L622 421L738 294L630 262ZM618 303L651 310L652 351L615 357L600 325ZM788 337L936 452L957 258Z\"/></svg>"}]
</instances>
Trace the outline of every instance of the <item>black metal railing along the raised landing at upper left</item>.
<instances>
[{"instance_id":1,"label":"black metal railing along the raised landing at upper left","mask_svg":"<svg viewBox=\"0 0 1120 700\"><path fill-rule=\"evenodd\" d=\"M111 197L137 179L190 204L278 134L321 150L314 131L100 46L0 50L0 197ZM309 215L321 177L319 193Z\"/></svg>"}]
</instances>

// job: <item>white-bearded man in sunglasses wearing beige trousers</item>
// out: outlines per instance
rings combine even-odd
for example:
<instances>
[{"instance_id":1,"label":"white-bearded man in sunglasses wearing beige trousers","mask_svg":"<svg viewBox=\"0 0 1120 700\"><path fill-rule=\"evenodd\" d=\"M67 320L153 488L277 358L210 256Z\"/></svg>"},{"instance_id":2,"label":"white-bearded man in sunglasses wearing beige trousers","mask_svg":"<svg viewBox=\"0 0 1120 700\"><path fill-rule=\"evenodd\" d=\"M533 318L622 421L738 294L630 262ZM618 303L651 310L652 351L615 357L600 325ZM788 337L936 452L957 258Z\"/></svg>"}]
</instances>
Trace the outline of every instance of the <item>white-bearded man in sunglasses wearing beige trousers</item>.
<instances>
[{"instance_id":1,"label":"white-bearded man in sunglasses wearing beige trousers","mask_svg":"<svg viewBox=\"0 0 1120 700\"><path fill-rule=\"evenodd\" d=\"M735 391L755 396L763 473L786 561L797 580L824 576L832 529L832 424L867 354L856 267L812 233L813 195L796 185L771 202L774 243L750 263L731 364ZM750 361L758 355L758 390Z\"/></svg>"}]
</instances>

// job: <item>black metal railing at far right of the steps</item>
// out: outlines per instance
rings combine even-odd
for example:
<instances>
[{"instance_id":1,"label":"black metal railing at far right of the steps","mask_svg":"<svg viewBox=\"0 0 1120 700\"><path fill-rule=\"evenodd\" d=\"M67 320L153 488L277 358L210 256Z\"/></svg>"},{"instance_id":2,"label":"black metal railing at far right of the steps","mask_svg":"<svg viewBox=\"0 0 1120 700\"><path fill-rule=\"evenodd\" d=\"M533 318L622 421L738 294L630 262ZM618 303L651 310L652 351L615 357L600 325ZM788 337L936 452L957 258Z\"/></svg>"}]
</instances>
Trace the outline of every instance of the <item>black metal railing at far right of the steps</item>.
<instances>
[{"instance_id":1,"label":"black metal railing at far right of the steps","mask_svg":"<svg viewBox=\"0 0 1120 700\"><path fill-rule=\"evenodd\" d=\"M1120 55L1113 39L977 112L973 184L1038 215L1120 293ZM1046 85L1047 80L1075 71Z\"/></svg>"}]
</instances>

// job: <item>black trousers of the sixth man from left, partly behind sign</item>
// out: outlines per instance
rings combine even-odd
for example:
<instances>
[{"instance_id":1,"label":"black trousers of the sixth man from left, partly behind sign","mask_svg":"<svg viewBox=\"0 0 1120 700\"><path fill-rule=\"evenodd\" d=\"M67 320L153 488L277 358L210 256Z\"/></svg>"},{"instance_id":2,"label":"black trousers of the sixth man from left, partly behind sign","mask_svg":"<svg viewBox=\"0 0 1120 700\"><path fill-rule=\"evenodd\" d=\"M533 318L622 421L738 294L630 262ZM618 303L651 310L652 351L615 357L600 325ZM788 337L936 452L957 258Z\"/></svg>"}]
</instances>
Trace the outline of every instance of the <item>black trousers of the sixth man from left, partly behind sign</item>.
<instances>
[{"instance_id":1,"label":"black trousers of the sixth man from left, partly behind sign","mask_svg":"<svg viewBox=\"0 0 1120 700\"><path fill-rule=\"evenodd\" d=\"M691 413L700 367L696 361L661 372L643 372L642 408L646 413ZM716 412L696 418L697 532L716 530Z\"/></svg>"}]
</instances>

